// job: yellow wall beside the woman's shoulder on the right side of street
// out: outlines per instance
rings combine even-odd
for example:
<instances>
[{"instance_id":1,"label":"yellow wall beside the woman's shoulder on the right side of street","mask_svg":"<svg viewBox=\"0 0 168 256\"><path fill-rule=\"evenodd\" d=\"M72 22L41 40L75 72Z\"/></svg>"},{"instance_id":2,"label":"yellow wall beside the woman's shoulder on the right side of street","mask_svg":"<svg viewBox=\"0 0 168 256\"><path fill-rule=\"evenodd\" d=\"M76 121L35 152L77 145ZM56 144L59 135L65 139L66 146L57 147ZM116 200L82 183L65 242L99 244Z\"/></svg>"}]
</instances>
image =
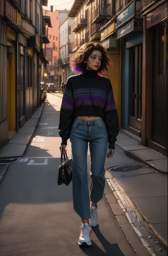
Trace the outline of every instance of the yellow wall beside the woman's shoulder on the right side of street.
<instances>
[{"instance_id":1,"label":"yellow wall beside the woman's shoulder on the right side of street","mask_svg":"<svg viewBox=\"0 0 168 256\"><path fill-rule=\"evenodd\" d=\"M120 54L110 55L112 61L111 68L104 76L108 77L111 81L114 99L116 102L119 126L121 126L121 83L120 83Z\"/></svg>"}]
</instances>

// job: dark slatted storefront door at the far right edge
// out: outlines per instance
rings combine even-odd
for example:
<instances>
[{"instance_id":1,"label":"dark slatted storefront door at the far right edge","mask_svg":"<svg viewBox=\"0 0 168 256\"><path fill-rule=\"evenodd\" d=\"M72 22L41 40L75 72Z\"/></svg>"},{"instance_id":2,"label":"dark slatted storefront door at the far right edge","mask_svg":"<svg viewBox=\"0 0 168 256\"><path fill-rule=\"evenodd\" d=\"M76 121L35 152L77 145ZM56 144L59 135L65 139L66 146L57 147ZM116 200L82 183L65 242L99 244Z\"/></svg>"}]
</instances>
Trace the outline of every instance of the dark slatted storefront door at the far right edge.
<instances>
[{"instance_id":1,"label":"dark slatted storefront door at the far right edge","mask_svg":"<svg viewBox=\"0 0 168 256\"><path fill-rule=\"evenodd\" d=\"M151 140L167 151L168 51L167 28L153 28Z\"/></svg>"}]
</instances>

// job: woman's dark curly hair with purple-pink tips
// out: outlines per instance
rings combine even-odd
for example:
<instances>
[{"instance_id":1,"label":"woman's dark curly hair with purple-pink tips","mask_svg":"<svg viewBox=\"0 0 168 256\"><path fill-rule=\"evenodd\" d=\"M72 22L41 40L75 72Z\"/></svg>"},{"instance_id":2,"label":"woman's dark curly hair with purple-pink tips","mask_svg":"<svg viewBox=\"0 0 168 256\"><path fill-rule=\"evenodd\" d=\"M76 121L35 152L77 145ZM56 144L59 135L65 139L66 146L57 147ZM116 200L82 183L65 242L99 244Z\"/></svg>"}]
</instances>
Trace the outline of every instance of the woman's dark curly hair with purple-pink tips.
<instances>
[{"instance_id":1,"label":"woman's dark curly hair with purple-pink tips","mask_svg":"<svg viewBox=\"0 0 168 256\"><path fill-rule=\"evenodd\" d=\"M111 60L109 58L108 52L100 43L94 43L94 42L83 44L77 50L77 52L75 52L75 54L69 61L72 71L76 73L83 73L86 69L84 62L87 61L88 57L95 50L100 51L102 54L101 66L97 70L97 73L102 74L104 73L104 71L107 71L107 66L110 67L110 64L111 64Z\"/></svg>"}]
</instances>

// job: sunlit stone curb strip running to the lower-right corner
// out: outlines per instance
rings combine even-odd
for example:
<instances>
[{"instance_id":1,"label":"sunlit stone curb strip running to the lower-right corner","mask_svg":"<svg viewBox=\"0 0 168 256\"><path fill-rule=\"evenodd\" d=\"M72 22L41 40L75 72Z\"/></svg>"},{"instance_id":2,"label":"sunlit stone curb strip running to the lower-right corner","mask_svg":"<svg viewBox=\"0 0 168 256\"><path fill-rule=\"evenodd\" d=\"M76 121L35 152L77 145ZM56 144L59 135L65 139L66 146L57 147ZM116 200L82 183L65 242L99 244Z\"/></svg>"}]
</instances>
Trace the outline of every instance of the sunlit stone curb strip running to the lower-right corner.
<instances>
[{"instance_id":1,"label":"sunlit stone curb strip running to the lower-right corner","mask_svg":"<svg viewBox=\"0 0 168 256\"><path fill-rule=\"evenodd\" d=\"M118 218L121 215L127 217L127 221L129 222L129 226L131 227L130 232L134 230L139 240L141 241L142 246L146 248L151 256L167 256L167 243L161 238L156 230L152 228L150 224L146 223L145 217L140 213L139 209L136 207L130 197L125 192L121 191L121 189L115 182L115 179L109 179L106 176L105 178L112 194L118 202L120 212L116 212L116 209L113 208L113 204L110 204L111 210L113 211L114 216L116 217L119 225L124 232L124 235L126 236L127 240L129 241L135 252L137 252L137 254L139 255L137 249L134 248L135 244L130 242L130 237L128 234L129 227L127 227L127 229L124 229L122 227L122 223ZM107 201L109 201L108 195L105 196Z\"/></svg>"}]
</instances>

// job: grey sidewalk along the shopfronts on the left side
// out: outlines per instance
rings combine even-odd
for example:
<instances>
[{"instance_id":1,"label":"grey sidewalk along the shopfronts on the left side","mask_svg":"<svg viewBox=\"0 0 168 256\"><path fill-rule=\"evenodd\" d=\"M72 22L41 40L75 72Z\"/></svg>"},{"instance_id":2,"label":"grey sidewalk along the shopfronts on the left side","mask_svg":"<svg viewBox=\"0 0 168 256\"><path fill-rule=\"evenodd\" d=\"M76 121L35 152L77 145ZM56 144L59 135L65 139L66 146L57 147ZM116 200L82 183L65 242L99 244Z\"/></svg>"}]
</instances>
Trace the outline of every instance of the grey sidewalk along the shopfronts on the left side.
<instances>
[{"instance_id":1,"label":"grey sidewalk along the shopfronts on the left side","mask_svg":"<svg viewBox=\"0 0 168 256\"><path fill-rule=\"evenodd\" d=\"M38 125L44 105L45 102L41 104L41 106L33 114L32 118L30 118L24 124L19 132L9 140L7 145L5 145L4 148L0 150L0 158L14 157L13 152L15 152L15 156L17 157L24 155L29 141L32 139L35 129Z\"/></svg>"}]
</instances>

